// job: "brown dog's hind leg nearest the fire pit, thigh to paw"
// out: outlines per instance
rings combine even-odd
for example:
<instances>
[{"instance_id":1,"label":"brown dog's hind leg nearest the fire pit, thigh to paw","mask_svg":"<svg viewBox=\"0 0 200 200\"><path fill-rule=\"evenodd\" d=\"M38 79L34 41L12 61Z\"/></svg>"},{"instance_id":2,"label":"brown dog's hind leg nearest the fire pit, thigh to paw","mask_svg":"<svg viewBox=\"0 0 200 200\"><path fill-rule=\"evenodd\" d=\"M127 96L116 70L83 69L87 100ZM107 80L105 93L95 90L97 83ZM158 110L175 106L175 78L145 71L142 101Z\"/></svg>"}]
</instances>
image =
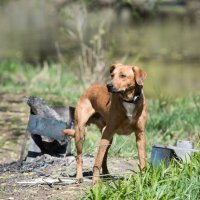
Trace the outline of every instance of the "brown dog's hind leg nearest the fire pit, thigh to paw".
<instances>
[{"instance_id":1,"label":"brown dog's hind leg nearest the fire pit, thigh to paw","mask_svg":"<svg viewBox=\"0 0 200 200\"><path fill-rule=\"evenodd\" d=\"M87 121L94 114L94 109L90 101L84 101L77 106L76 110L76 128L75 128L75 145L77 150L76 157L76 178L80 183L83 181L83 141L87 129Z\"/></svg>"}]
</instances>

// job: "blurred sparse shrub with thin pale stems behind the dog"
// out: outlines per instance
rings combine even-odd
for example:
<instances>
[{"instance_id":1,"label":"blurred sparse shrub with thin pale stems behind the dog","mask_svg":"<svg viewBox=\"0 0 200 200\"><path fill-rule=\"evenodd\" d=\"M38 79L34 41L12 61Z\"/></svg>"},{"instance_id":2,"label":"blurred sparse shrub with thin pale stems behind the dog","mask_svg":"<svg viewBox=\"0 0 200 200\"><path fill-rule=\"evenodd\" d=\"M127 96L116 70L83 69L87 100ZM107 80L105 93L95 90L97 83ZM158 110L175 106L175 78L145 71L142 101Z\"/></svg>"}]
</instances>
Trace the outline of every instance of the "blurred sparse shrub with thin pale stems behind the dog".
<instances>
[{"instance_id":1,"label":"blurred sparse shrub with thin pale stems behind the dog","mask_svg":"<svg viewBox=\"0 0 200 200\"><path fill-rule=\"evenodd\" d=\"M94 23L84 4L64 11L66 26L62 27L62 31L66 33L66 39L78 44L80 50L77 56L78 67L75 69L79 79L85 88L93 83L105 82L108 67L104 41L108 37L108 31L105 31L108 22L104 19ZM92 24L96 27L95 31Z\"/></svg>"}]
</instances>

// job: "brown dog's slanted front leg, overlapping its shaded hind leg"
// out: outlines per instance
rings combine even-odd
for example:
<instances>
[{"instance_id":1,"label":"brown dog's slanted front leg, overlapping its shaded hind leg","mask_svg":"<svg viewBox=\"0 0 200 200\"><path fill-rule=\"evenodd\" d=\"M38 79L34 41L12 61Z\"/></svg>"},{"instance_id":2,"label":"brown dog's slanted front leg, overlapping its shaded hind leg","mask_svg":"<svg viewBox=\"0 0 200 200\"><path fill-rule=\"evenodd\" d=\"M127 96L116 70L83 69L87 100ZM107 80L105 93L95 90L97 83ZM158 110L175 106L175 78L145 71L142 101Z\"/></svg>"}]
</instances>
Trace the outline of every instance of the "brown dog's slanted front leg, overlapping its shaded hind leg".
<instances>
[{"instance_id":1,"label":"brown dog's slanted front leg, overlapping its shaded hind leg","mask_svg":"<svg viewBox=\"0 0 200 200\"><path fill-rule=\"evenodd\" d=\"M108 132L106 130L102 135L98 153L97 153L96 160L95 160L95 164L93 167L93 179L92 179L93 185L99 180L99 175L100 175L100 170L102 167L103 159L104 159L104 162L107 163L105 160L105 159L107 159L106 153L107 153L107 149L109 149L108 147L111 144L113 135L114 134L113 133L110 134L110 132L108 134ZM106 157L104 158L105 155L106 155Z\"/></svg>"}]
</instances>

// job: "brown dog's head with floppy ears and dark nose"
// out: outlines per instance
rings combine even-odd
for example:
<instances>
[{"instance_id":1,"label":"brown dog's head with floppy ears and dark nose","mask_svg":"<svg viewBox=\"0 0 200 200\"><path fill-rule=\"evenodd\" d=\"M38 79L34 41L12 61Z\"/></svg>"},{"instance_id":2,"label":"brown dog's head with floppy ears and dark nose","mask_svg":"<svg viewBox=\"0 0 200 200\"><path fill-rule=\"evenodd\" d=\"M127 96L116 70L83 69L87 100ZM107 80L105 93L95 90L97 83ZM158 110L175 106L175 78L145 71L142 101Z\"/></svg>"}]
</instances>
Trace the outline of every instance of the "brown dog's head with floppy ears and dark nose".
<instances>
[{"instance_id":1,"label":"brown dog's head with floppy ears and dark nose","mask_svg":"<svg viewBox=\"0 0 200 200\"><path fill-rule=\"evenodd\" d=\"M130 89L135 90L137 86L142 88L147 74L136 66L114 64L110 66L110 76L111 82L107 84L108 91L124 93Z\"/></svg>"}]
</instances>

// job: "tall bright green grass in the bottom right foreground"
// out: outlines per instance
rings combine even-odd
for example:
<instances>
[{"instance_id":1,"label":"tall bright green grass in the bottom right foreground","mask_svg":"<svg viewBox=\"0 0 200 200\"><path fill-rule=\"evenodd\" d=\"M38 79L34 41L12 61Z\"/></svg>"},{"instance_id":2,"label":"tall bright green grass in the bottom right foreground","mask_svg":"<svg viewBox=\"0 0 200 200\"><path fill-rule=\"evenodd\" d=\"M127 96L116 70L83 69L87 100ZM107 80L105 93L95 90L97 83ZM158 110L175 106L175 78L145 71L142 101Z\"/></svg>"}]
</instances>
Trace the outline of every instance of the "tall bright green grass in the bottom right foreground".
<instances>
[{"instance_id":1,"label":"tall bright green grass in the bottom right foreground","mask_svg":"<svg viewBox=\"0 0 200 200\"><path fill-rule=\"evenodd\" d=\"M200 154L190 163L173 162L145 172L133 174L125 180L101 182L88 190L84 199L186 200L200 197Z\"/></svg>"}]
</instances>

